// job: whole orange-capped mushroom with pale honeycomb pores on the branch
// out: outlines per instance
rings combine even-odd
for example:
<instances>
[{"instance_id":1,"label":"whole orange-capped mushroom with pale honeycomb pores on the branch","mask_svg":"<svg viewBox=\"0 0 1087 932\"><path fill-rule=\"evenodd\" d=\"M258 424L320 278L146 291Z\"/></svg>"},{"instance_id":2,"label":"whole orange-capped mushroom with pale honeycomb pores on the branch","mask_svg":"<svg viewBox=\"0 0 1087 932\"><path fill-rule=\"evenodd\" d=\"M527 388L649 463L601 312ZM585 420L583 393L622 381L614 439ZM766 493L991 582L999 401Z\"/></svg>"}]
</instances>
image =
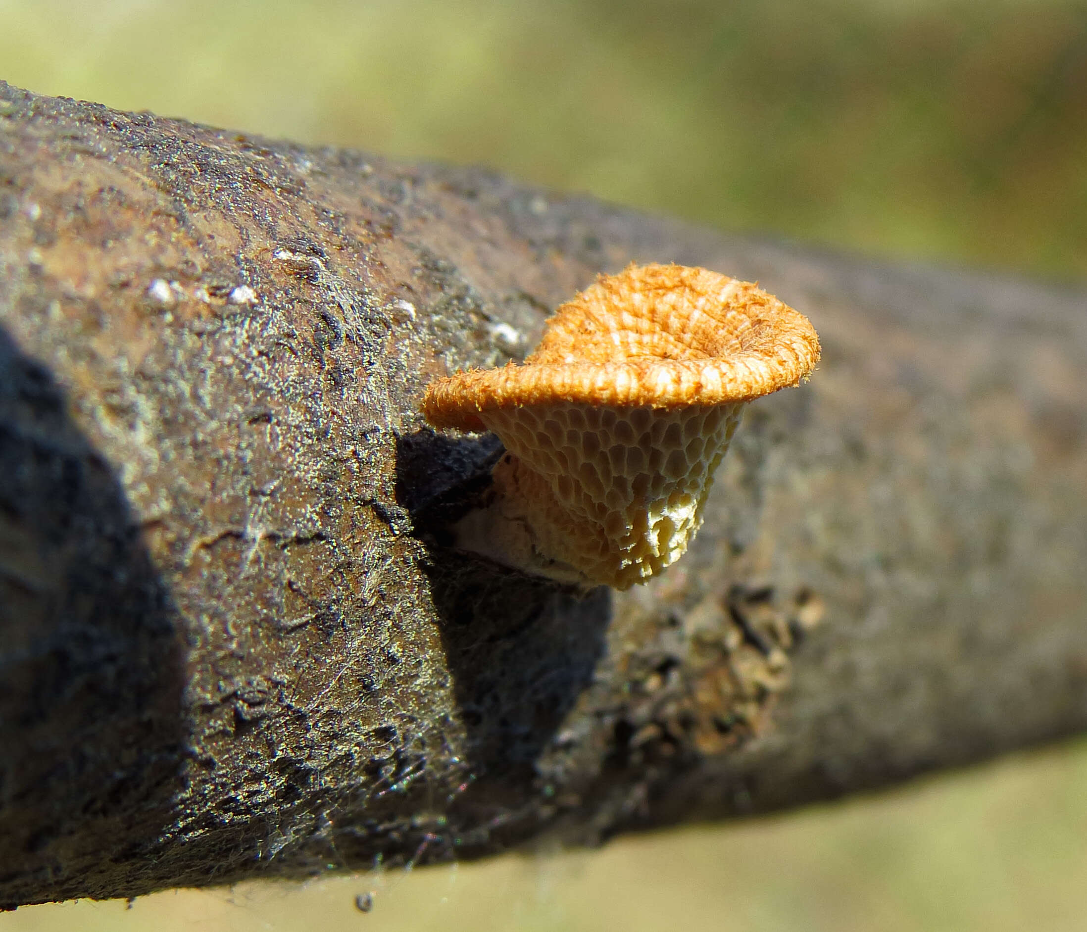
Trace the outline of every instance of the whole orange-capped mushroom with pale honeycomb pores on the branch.
<instances>
[{"instance_id":1,"label":"whole orange-capped mushroom with pale honeycomb pores on the branch","mask_svg":"<svg viewBox=\"0 0 1087 932\"><path fill-rule=\"evenodd\" d=\"M702 523L745 405L819 358L808 319L750 283L658 264L599 276L523 364L427 388L433 425L493 431L507 450L457 546L563 582L645 582Z\"/></svg>"}]
</instances>

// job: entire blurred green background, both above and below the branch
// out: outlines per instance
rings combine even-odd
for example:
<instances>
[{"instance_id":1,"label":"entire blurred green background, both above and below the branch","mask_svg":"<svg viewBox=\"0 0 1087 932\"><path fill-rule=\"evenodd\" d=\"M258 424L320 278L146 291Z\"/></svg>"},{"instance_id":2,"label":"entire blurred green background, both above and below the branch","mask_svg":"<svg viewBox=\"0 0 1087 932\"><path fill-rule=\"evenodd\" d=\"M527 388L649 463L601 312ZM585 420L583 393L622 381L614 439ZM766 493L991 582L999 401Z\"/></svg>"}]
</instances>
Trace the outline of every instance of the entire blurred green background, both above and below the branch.
<instances>
[{"instance_id":1,"label":"entire blurred green background, both above and below the branch","mask_svg":"<svg viewBox=\"0 0 1087 932\"><path fill-rule=\"evenodd\" d=\"M0 0L0 78L734 232L1087 279L1087 2ZM1087 929L1087 743L602 852L34 907L0 932L679 923Z\"/></svg>"}]
</instances>

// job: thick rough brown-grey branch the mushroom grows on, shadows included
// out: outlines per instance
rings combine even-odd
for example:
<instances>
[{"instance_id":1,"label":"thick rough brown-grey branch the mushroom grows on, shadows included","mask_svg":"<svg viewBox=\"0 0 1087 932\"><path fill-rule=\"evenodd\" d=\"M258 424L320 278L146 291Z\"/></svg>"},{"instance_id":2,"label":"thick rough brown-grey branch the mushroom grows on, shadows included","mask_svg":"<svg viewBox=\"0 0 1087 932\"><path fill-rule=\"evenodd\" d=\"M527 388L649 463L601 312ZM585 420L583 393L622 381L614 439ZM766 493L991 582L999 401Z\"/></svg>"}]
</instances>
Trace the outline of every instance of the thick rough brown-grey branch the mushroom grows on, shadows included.
<instances>
[{"instance_id":1,"label":"thick rough brown-grey branch the mushroom grows on, shadows included","mask_svg":"<svg viewBox=\"0 0 1087 932\"><path fill-rule=\"evenodd\" d=\"M692 550L447 546L427 381L632 259L824 344ZM0 903L766 811L1087 725L1087 294L0 85Z\"/></svg>"}]
</instances>

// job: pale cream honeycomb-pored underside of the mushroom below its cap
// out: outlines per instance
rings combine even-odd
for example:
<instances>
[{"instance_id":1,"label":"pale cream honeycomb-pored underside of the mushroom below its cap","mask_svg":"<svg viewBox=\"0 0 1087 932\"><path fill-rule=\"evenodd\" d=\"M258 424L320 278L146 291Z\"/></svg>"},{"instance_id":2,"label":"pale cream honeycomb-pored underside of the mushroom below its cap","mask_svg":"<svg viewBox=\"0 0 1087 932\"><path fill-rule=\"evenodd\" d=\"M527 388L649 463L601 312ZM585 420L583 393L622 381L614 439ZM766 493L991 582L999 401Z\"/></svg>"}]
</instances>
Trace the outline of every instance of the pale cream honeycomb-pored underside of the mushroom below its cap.
<instances>
[{"instance_id":1,"label":"pale cream honeycomb-pored underside of the mushroom below its cap","mask_svg":"<svg viewBox=\"0 0 1087 932\"><path fill-rule=\"evenodd\" d=\"M508 517L528 524L546 558L625 589L687 549L744 407L558 402L482 419L509 452L495 469L520 509Z\"/></svg>"}]
</instances>

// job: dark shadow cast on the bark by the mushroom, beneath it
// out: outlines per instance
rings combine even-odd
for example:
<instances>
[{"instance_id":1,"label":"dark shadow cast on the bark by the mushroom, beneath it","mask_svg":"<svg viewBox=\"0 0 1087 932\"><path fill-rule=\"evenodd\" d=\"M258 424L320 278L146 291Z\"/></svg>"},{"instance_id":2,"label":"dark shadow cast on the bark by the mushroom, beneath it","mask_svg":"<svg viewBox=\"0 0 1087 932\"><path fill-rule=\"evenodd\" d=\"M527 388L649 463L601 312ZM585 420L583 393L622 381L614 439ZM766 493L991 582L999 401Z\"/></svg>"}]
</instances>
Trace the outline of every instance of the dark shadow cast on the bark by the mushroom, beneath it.
<instances>
[{"instance_id":1,"label":"dark shadow cast on the bark by the mushroom, beneath it","mask_svg":"<svg viewBox=\"0 0 1087 932\"><path fill-rule=\"evenodd\" d=\"M397 450L397 500L429 549L424 571L468 736L474 785L461 811L515 809L503 787L540 782L535 765L591 683L612 617L604 586L582 594L451 548L449 523L486 490L502 452L490 435L426 431Z\"/></svg>"}]
</instances>

